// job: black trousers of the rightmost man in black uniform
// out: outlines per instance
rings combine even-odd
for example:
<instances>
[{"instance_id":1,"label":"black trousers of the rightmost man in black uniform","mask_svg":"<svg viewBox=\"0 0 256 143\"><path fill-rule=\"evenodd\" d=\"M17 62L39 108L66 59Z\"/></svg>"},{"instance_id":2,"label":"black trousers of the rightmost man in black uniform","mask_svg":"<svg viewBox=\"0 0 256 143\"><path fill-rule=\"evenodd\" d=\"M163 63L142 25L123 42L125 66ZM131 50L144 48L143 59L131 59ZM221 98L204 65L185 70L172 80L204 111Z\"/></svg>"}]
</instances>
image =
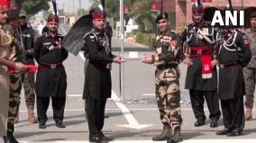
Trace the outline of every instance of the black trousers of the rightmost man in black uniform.
<instances>
[{"instance_id":1,"label":"black trousers of the rightmost man in black uniform","mask_svg":"<svg viewBox=\"0 0 256 143\"><path fill-rule=\"evenodd\" d=\"M242 132L244 128L243 96L230 100L221 100L224 128Z\"/></svg>"}]
</instances>

